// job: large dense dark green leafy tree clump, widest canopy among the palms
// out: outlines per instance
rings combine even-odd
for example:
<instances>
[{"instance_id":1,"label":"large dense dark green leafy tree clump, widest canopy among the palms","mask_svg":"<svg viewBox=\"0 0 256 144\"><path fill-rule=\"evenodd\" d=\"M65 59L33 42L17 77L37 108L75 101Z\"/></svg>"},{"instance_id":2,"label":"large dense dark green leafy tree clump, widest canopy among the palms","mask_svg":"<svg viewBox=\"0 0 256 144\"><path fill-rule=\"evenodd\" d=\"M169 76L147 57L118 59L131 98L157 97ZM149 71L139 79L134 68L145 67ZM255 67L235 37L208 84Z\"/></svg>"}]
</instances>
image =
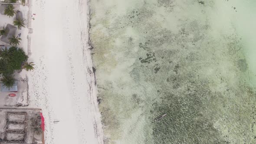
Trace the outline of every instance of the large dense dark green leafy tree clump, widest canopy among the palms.
<instances>
[{"instance_id":1,"label":"large dense dark green leafy tree clump, widest canopy among the palms","mask_svg":"<svg viewBox=\"0 0 256 144\"><path fill-rule=\"evenodd\" d=\"M21 70L22 64L28 59L23 49L15 46L1 51L0 57L0 74L3 75L11 75L15 70Z\"/></svg>"}]
</instances>

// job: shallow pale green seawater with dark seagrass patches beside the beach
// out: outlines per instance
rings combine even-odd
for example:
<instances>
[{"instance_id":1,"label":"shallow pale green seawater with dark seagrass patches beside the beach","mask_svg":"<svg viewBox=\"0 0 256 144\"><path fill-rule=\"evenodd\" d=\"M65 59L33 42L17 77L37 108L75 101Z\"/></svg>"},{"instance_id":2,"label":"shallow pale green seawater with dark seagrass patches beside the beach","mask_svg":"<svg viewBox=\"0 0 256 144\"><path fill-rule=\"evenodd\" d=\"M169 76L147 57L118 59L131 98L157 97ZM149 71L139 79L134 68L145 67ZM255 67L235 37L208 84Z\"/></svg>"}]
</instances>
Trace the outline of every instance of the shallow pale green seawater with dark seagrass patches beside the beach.
<instances>
[{"instance_id":1,"label":"shallow pale green seawater with dark seagrass patches beside the beach","mask_svg":"<svg viewBox=\"0 0 256 144\"><path fill-rule=\"evenodd\" d=\"M89 4L106 144L256 144L255 0Z\"/></svg>"}]
</instances>

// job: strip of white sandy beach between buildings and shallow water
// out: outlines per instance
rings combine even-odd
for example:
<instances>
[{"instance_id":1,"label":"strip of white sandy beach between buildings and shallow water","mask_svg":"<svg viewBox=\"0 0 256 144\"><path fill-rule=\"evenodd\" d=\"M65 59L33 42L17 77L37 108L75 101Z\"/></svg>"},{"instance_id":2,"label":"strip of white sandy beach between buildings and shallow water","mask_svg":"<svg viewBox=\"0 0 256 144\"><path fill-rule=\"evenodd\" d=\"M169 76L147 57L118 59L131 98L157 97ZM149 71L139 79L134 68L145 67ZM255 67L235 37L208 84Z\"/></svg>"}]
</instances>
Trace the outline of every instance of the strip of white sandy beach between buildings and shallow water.
<instances>
[{"instance_id":1,"label":"strip of white sandy beach between buildings and shallow water","mask_svg":"<svg viewBox=\"0 0 256 144\"><path fill-rule=\"evenodd\" d=\"M30 107L45 117L46 144L103 144L86 0L31 0Z\"/></svg>"}]
</instances>

